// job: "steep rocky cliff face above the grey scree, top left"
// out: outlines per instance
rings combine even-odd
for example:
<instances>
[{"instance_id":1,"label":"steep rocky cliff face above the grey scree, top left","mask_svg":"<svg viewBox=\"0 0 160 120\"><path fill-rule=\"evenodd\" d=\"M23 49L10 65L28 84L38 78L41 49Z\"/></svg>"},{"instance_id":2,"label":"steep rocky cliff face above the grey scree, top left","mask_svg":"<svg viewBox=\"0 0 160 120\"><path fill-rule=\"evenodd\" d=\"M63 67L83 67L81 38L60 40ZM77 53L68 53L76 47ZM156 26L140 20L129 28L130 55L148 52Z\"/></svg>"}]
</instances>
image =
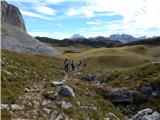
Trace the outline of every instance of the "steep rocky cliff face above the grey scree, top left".
<instances>
[{"instance_id":1,"label":"steep rocky cliff face above the grey scree, top left","mask_svg":"<svg viewBox=\"0 0 160 120\"><path fill-rule=\"evenodd\" d=\"M19 9L6 1L1 1L1 22L17 26L20 30L26 31L25 23Z\"/></svg>"}]
</instances>

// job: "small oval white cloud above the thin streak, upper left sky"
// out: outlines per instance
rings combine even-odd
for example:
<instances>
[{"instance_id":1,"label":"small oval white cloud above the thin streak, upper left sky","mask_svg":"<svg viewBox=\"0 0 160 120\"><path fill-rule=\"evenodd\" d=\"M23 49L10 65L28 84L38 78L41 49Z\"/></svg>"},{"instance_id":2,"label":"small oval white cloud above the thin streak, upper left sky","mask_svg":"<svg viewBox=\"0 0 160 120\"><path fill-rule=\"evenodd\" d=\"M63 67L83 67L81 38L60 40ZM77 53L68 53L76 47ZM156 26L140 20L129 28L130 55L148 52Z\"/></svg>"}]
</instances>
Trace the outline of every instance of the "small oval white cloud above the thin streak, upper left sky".
<instances>
[{"instance_id":1,"label":"small oval white cloud above the thin streak, upper left sky","mask_svg":"<svg viewBox=\"0 0 160 120\"><path fill-rule=\"evenodd\" d=\"M34 6L34 9L39 13L47 14L47 15L55 15L56 13L54 9L47 6L42 6L42 5Z\"/></svg>"}]
</instances>

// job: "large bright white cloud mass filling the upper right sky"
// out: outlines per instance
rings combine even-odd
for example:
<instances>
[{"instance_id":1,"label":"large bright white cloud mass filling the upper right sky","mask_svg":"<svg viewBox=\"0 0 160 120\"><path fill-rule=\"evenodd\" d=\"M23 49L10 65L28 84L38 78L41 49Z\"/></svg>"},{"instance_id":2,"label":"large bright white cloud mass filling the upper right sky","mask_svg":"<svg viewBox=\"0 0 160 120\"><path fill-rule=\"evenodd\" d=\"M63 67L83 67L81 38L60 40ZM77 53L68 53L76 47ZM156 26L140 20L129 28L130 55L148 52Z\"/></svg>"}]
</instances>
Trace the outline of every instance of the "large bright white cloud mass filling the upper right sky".
<instances>
[{"instance_id":1,"label":"large bright white cloud mass filling the upper right sky","mask_svg":"<svg viewBox=\"0 0 160 120\"><path fill-rule=\"evenodd\" d=\"M92 0L80 8L70 8L67 15L77 16L84 15L88 18L96 16L113 16L120 15L122 20L106 23L102 26L95 27L96 30L103 29L99 33L124 32L133 35L147 34L151 35L150 28L159 29L155 34L160 35L160 1L159 0ZM85 14L89 11L91 14ZM89 22L88 24L97 24ZM92 33L96 30L91 29ZM90 32L90 31L88 31ZM91 33L90 32L90 33ZM101 33L101 34L102 34Z\"/></svg>"}]
</instances>

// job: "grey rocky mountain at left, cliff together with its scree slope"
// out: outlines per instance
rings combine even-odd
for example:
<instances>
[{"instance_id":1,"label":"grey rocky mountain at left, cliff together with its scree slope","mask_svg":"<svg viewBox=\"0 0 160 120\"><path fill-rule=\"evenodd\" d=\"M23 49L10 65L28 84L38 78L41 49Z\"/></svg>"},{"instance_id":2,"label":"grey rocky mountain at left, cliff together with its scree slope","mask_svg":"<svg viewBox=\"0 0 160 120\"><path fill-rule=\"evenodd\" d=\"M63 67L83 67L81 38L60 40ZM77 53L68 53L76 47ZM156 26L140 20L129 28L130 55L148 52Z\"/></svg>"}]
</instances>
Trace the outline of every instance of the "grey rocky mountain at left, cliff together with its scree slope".
<instances>
[{"instance_id":1,"label":"grey rocky mountain at left, cliff together with its scree slope","mask_svg":"<svg viewBox=\"0 0 160 120\"><path fill-rule=\"evenodd\" d=\"M1 1L1 8L2 49L51 56L59 54L56 49L49 48L26 32L24 20L17 7Z\"/></svg>"}]
</instances>

